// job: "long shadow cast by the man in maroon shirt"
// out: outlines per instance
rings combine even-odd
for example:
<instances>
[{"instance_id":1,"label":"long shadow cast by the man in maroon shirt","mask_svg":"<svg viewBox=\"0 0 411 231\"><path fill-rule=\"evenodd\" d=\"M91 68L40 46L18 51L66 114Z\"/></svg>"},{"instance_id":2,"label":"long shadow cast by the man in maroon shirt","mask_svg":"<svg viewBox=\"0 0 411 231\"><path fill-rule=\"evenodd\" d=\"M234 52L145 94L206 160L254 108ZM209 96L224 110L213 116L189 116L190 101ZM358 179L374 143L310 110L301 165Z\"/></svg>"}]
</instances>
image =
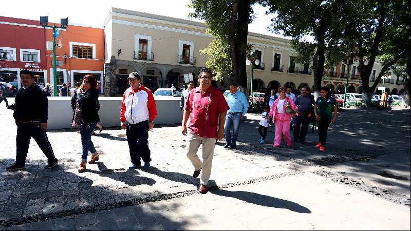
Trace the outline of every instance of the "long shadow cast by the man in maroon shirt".
<instances>
[{"instance_id":1,"label":"long shadow cast by the man in maroon shirt","mask_svg":"<svg viewBox=\"0 0 411 231\"><path fill-rule=\"evenodd\" d=\"M245 201L248 203L265 206L265 207L274 207L274 208L286 208L297 213L310 214L311 210L297 204L292 201L287 201L275 197L270 197L266 195L256 194L255 192L248 191L227 191L223 189L210 191L211 194L223 196L223 197L232 197L237 198L238 200Z\"/></svg>"}]
</instances>

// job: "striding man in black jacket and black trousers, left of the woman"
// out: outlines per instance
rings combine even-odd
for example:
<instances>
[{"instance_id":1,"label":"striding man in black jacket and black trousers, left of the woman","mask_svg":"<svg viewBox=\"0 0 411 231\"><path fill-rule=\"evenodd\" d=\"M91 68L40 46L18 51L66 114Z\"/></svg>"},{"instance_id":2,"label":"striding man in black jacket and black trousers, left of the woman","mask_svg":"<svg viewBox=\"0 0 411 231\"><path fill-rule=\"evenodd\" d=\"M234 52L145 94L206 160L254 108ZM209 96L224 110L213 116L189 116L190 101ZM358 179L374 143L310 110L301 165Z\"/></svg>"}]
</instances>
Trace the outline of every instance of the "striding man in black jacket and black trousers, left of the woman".
<instances>
[{"instance_id":1,"label":"striding man in black jacket and black trousers, left of the woman","mask_svg":"<svg viewBox=\"0 0 411 231\"><path fill-rule=\"evenodd\" d=\"M48 102L46 92L34 83L34 73L29 70L20 72L23 87L18 90L14 104L8 108L14 110L13 117L17 125L16 161L6 170L25 168L30 139L33 138L48 159L45 168L52 168L58 161L48 141L47 114Z\"/></svg>"}]
</instances>

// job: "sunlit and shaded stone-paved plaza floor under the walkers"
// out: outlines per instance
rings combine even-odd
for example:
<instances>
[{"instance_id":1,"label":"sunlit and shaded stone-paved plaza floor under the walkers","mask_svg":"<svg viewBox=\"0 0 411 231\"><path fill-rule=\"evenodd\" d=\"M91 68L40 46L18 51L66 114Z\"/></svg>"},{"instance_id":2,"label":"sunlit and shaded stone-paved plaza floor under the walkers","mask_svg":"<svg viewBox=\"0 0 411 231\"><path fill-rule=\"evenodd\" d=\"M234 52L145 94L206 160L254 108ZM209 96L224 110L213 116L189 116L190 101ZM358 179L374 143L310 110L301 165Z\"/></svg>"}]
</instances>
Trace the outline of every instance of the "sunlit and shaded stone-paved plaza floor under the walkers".
<instances>
[{"instance_id":1,"label":"sunlit and shaded stone-paved plaza floor under the walkers","mask_svg":"<svg viewBox=\"0 0 411 231\"><path fill-rule=\"evenodd\" d=\"M26 169L7 172L16 125L8 109L0 118L0 229L410 229L409 109L339 113L325 153L316 130L273 149L269 127L271 143L259 144L259 115L248 114L237 149L217 144L205 195L178 124L149 132L149 169L128 169L125 130L114 127L92 137L100 160L82 174L74 129L47 131L58 167L44 169L32 140Z\"/></svg>"}]
</instances>

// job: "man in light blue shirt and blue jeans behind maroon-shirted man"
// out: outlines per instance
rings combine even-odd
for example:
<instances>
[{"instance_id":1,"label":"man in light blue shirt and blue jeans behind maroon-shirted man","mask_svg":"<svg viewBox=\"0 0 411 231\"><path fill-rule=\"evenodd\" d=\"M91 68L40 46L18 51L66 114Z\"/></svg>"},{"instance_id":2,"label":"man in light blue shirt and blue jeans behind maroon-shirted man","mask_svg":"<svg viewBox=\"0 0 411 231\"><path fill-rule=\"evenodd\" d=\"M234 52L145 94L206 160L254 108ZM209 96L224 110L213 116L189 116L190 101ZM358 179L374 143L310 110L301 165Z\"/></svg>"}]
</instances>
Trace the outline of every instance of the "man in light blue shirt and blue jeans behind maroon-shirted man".
<instances>
[{"instance_id":1,"label":"man in light blue shirt and blue jeans behind maroon-shirted man","mask_svg":"<svg viewBox=\"0 0 411 231\"><path fill-rule=\"evenodd\" d=\"M246 95L237 90L237 84L235 83L230 84L230 94L227 95L226 101L230 110L227 111L226 123L224 124L224 135L227 141L224 147L234 149L237 145L240 121L248 110L248 101ZM233 128L232 139L231 128Z\"/></svg>"}]
</instances>

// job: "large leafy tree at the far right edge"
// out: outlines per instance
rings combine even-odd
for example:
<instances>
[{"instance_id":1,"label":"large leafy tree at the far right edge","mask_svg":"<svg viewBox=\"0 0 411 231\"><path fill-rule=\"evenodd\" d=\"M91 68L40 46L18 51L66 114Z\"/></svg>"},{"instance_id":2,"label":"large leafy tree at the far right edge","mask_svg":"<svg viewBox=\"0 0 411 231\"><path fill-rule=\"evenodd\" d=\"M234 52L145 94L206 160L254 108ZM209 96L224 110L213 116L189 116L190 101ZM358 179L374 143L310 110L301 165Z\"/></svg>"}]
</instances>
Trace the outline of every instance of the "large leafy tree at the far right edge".
<instances>
[{"instance_id":1,"label":"large leafy tree at the far right edge","mask_svg":"<svg viewBox=\"0 0 411 231\"><path fill-rule=\"evenodd\" d=\"M358 57L357 67L363 87L363 101L371 103L372 93L381 77L396 66L405 66L410 48L409 4L397 0L347 1L344 5L343 36L346 51ZM375 82L369 86L373 65L383 66ZM397 73L399 74L399 73ZM408 101L409 96L405 101Z\"/></svg>"}]
</instances>

